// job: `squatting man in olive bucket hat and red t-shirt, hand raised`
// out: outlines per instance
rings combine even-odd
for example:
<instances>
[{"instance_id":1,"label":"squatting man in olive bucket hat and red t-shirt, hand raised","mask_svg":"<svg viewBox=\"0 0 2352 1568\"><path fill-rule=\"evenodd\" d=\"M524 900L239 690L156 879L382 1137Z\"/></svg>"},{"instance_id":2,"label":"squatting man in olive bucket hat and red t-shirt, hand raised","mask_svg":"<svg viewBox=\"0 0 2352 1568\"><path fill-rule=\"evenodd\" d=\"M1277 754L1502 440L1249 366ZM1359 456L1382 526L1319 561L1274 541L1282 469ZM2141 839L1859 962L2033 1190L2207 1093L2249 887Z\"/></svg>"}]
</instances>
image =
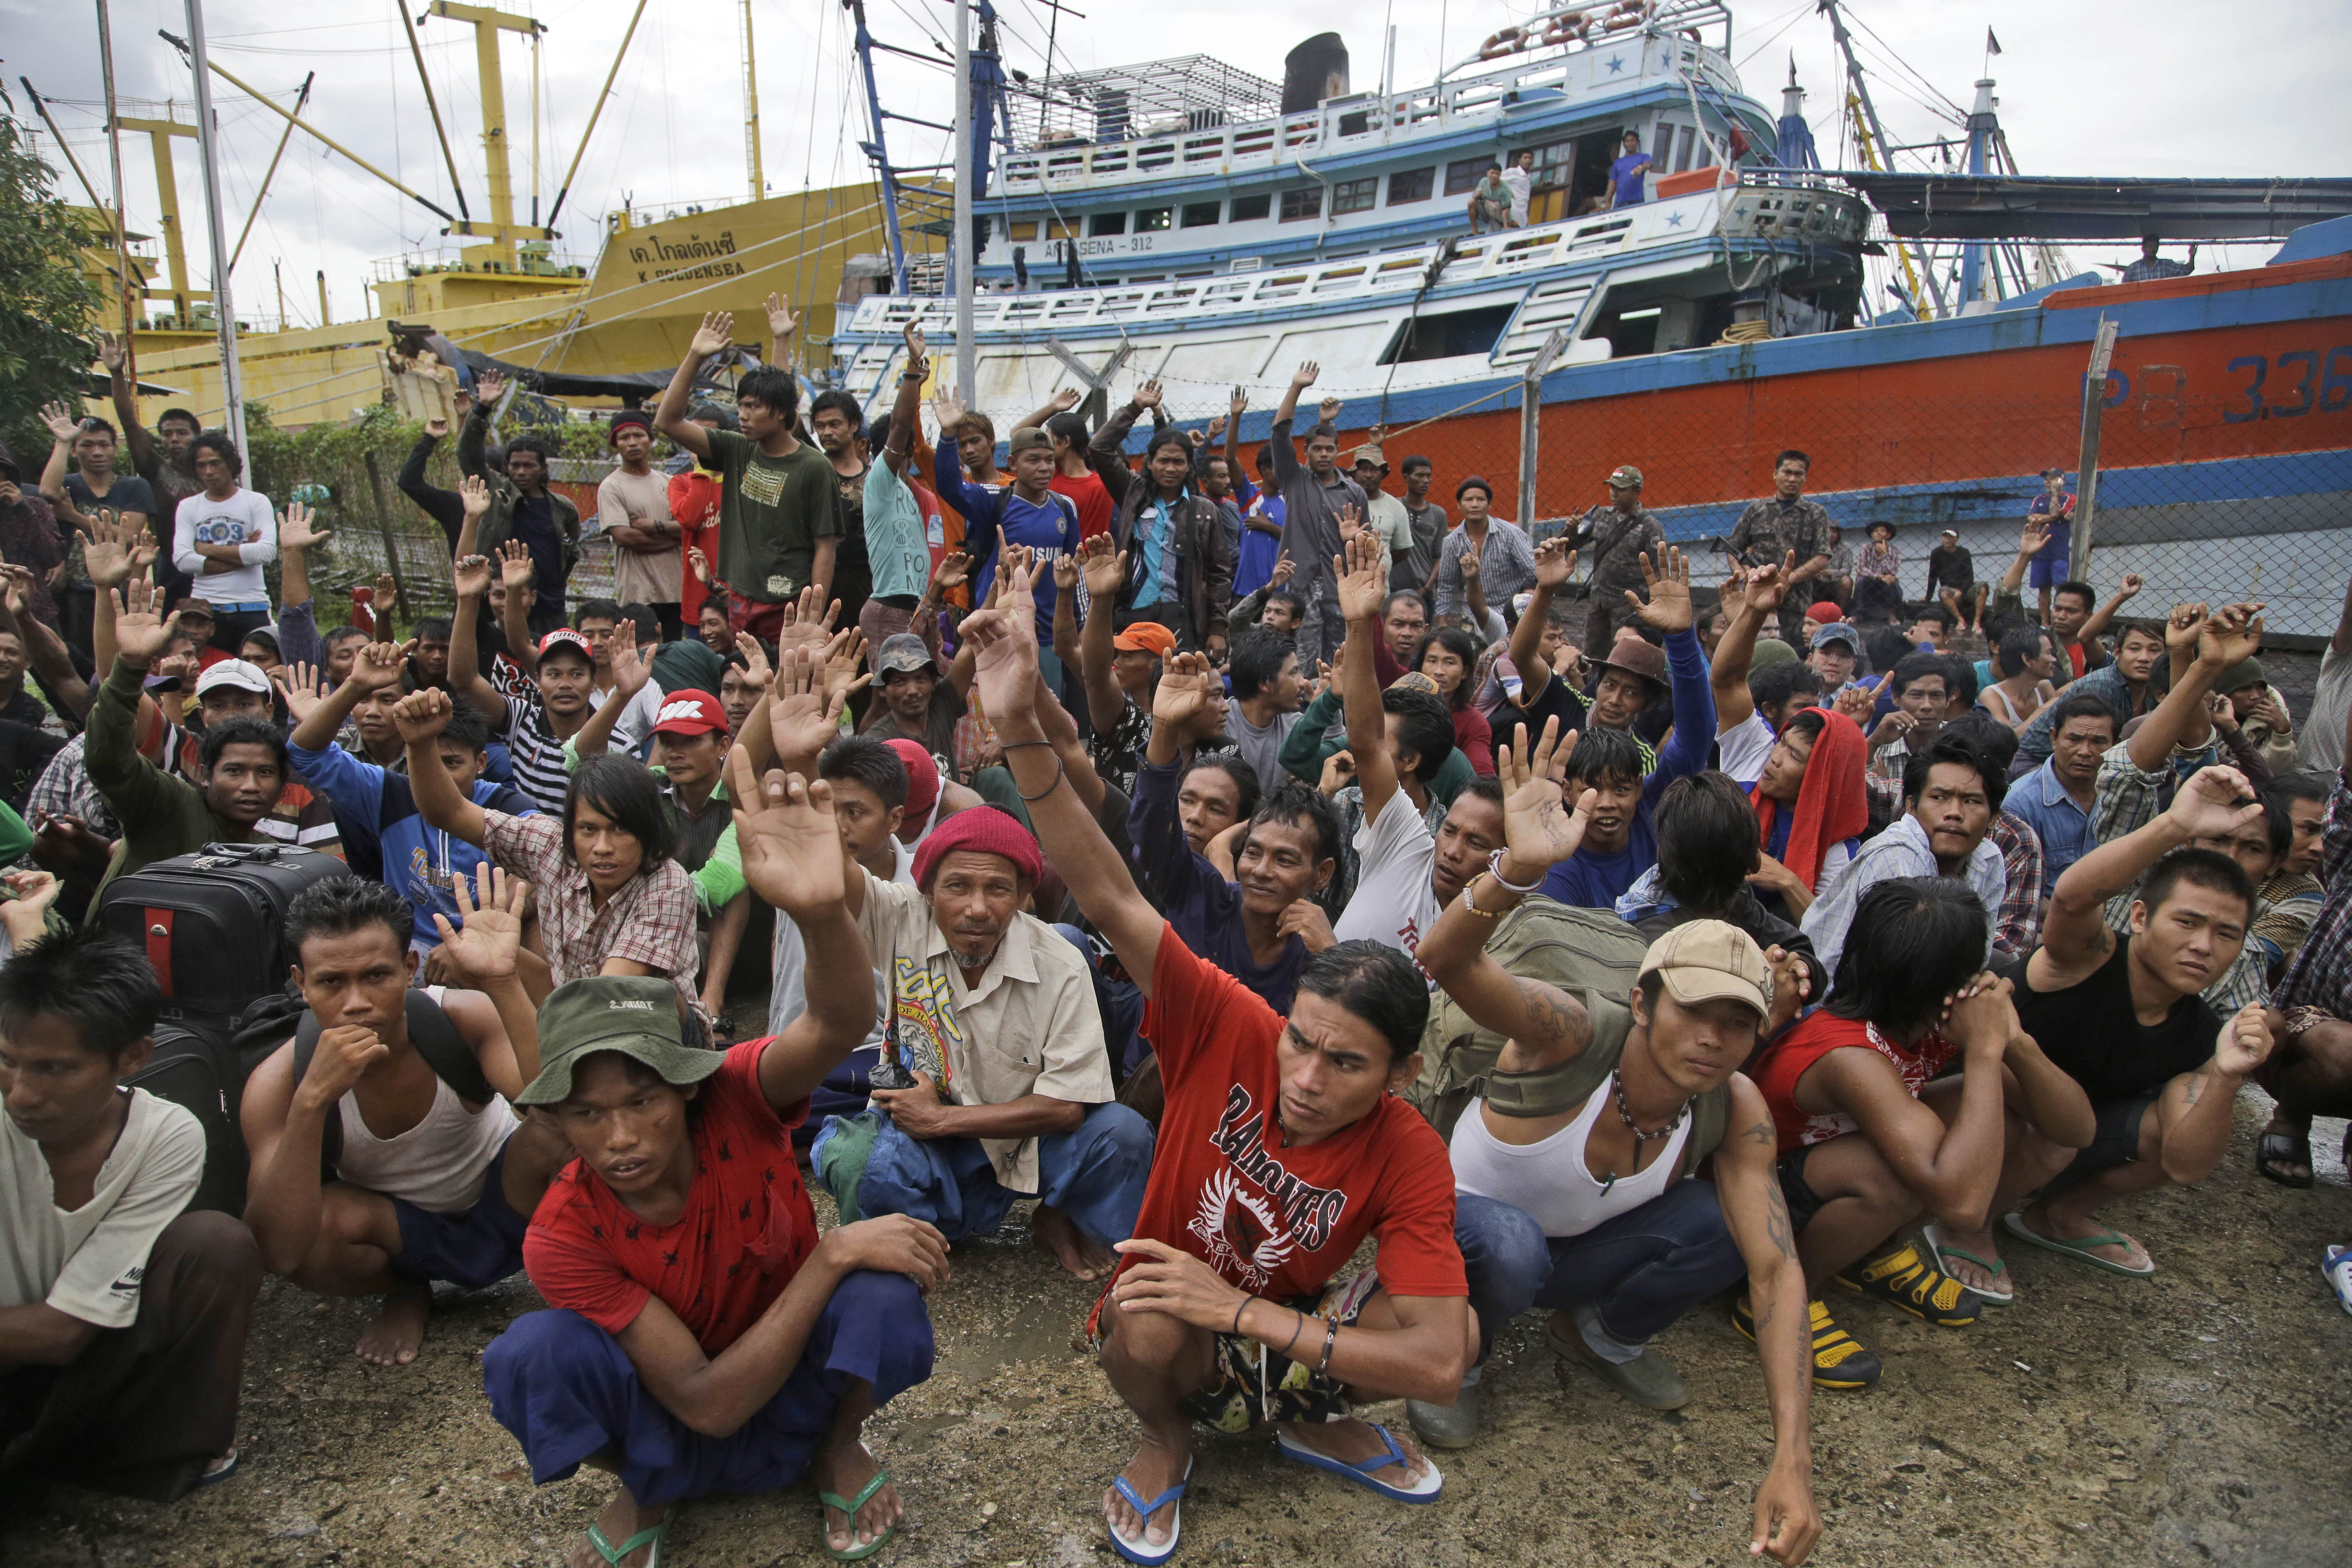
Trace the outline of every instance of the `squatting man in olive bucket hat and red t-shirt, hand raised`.
<instances>
[{"instance_id":1,"label":"squatting man in olive bucket hat and red t-shirt, hand raised","mask_svg":"<svg viewBox=\"0 0 2352 1568\"><path fill-rule=\"evenodd\" d=\"M800 926L811 973L868 973L830 788L748 764L727 783L743 877ZM908 1215L818 1239L790 1143L870 1025L866 985L811 987L783 1034L724 1053L682 1037L659 976L572 980L539 1009L543 1067L515 1103L553 1112L579 1159L522 1241L553 1312L515 1319L482 1382L534 1481L583 1462L621 1476L588 1528L604 1561L659 1552L677 1502L804 1476L830 1554L898 1526L861 1432L931 1375L922 1293L948 1279L948 1244Z\"/></svg>"}]
</instances>

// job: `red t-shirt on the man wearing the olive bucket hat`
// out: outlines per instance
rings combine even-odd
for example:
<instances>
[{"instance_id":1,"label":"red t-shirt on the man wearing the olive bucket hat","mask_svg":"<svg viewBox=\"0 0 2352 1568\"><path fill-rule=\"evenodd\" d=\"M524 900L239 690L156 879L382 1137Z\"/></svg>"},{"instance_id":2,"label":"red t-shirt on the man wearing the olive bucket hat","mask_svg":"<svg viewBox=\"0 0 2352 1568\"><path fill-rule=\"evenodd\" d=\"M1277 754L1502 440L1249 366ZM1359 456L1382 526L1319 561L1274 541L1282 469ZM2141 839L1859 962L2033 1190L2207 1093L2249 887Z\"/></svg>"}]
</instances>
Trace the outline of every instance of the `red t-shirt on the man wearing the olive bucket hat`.
<instances>
[{"instance_id":1,"label":"red t-shirt on the man wearing the olive bucket hat","mask_svg":"<svg viewBox=\"0 0 2352 1568\"><path fill-rule=\"evenodd\" d=\"M767 1103L767 1046L746 1039L703 1079L694 1182L675 1225L647 1225L576 1159L548 1185L522 1267L550 1307L621 1333L659 1295L715 1356L783 1295L816 1251L816 1211L793 1164L793 1128L809 1103L781 1117Z\"/></svg>"}]
</instances>

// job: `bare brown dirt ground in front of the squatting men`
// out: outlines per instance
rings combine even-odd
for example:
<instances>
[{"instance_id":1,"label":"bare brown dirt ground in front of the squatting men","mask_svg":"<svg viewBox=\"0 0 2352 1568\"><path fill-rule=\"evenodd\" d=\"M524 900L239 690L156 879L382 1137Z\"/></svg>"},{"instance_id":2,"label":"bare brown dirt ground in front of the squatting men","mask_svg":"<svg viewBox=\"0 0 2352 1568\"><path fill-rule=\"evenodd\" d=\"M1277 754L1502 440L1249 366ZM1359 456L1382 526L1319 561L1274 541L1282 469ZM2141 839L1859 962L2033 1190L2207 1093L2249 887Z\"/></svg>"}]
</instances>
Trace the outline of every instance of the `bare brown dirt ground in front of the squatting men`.
<instances>
[{"instance_id":1,"label":"bare brown dirt ground in front of the squatting men","mask_svg":"<svg viewBox=\"0 0 2352 1568\"><path fill-rule=\"evenodd\" d=\"M2352 1239L2352 1190L2319 1124L2319 1185L2253 1175L2265 1107L2246 1093L2223 1171L2126 1208L2152 1281L2011 1253L2020 1302L1936 1331L1842 1298L1886 1359L1867 1394L1816 1394L1818 1563L2249 1563L2352 1556L2352 1319L2319 1279ZM539 1305L445 1293L416 1366L350 1354L362 1302L270 1281L247 1359L245 1465L176 1507L56 1490L0 1521L9 1568L132 1563L557 1563L609 1481L534 1488L480 1392L482 1347ZM1073 1349L1089 1288L1025 1232L962 1246L934 1300L938 1371L870 1427L908 1502L884 1568L1115 1563L1101 1493L1136 1427ZM1524 1319L1486 1375L1486 1432L1442 1455L1444 1497L1399 1507L1211 1439L1185 1507L1190 1563L1733 1563L1771 1429L1752 1347L1719 1305L1665 1338L1696 1401L1628 1406L1564 1373ZM1402 1422L1402 1406L1383 1406ZM823 1563L809 1488L687 1509L666 1561Z\"/></svg>"}]
</instances>

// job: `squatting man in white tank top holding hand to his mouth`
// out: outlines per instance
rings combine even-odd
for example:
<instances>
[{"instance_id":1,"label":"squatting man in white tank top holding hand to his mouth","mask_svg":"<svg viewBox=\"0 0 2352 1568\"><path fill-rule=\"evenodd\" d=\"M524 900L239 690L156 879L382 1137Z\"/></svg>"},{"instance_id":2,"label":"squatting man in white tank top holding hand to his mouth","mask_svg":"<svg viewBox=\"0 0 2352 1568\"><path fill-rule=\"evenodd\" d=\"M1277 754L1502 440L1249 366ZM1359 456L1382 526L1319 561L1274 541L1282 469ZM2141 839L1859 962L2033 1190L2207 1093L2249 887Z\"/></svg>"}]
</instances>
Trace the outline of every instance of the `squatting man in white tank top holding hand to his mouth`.
<instances>
[{"instance_id":1,"label":"squatting man in white tank top holding hand to his mouth","mask_svg":"<svg viewBox=\"0 0 2352 1568\"><path fill-rule=\"evenodd\" d=\"M539 1070L532 999L515 978L529 884L456 879L456 933L485 992L412 990L409 900L336 879L287 910L306 1013L254 1067L238 1117L252 1150L245 1222L261 1262L320 1295L381 1295L360 1359L407 1366L433 1281L470 1291L522 1267L522 1227L569 1147L517 1124L508 1100Z\"/></svg>"}]
</instances>

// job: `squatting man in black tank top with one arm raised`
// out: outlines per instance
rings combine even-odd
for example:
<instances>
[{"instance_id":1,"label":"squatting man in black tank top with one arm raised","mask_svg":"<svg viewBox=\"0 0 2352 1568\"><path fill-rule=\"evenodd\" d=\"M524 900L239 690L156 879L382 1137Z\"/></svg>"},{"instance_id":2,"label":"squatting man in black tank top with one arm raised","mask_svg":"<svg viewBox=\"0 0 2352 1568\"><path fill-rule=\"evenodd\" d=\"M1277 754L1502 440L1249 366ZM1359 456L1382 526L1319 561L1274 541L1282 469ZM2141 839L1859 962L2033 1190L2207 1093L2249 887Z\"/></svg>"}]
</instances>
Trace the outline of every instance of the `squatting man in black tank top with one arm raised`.
<instances>
[{"instance_id":1,"label":"squatting man in black tank top with one arm raised","mask_svg":"<svg viewBox=\"0 0 2352 1568\"><path fill-rule=\"evenodd\" d=\"M2098 1138L2079 1154L2027 1143L2049 1185L2004 1215L2020 1241L2114 1274L2154 1274L2147 1248L2100 1225L2098 1211L2133 1192L2201 1182L2220 1164L2230 1107L2270 1056L2272 1025L2258 1001L2223 1020L2199 997L2246 943L2253 882L2227 853L2194 842L2227 839L2260 813L2244 773L2201 769L2164 816L2058 879L2042 947L2011 976L2018 1018L2091 1095ZM2133 882L2131 929L2117 933L2100 905Z\"/></svg>"}]
</instances>

